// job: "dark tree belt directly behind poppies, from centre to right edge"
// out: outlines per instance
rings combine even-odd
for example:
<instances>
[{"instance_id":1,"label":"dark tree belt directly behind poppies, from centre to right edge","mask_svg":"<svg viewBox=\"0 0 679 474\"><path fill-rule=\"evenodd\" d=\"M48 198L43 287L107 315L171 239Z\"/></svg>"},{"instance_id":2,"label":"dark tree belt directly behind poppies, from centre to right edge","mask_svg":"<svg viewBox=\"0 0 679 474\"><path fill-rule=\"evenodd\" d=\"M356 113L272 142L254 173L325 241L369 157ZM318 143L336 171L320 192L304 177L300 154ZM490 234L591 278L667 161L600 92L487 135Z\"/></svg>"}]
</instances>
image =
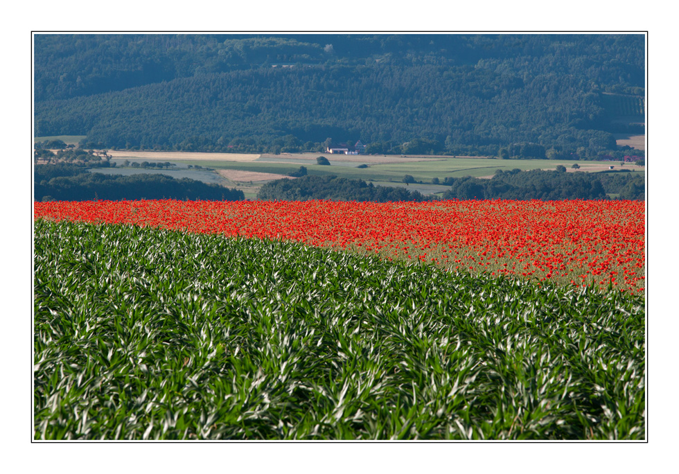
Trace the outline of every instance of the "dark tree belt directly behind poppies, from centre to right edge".
<instances>
[{"instance_id":1,"label":"dark tree belt directly behind poppies, from centre to right edge","mask_svg":"<svg viewBox=\"0 0 679 474\"><path fill-rule=\"evenodd\" d=\"M563 167L557 171L497 170L492 179L447 177L441 184L450 186L450 189L441 195L441 199L446 200L599 200L608 199L608 194L617 194L617 199L625 200L645 198L642 173L567 173ZM439 199L408 188L374 186L362 179L317 175L270 182L262 186L257 198L285 201L324 199L372 202L423 202Z\"/></svg>"}]
</instances>

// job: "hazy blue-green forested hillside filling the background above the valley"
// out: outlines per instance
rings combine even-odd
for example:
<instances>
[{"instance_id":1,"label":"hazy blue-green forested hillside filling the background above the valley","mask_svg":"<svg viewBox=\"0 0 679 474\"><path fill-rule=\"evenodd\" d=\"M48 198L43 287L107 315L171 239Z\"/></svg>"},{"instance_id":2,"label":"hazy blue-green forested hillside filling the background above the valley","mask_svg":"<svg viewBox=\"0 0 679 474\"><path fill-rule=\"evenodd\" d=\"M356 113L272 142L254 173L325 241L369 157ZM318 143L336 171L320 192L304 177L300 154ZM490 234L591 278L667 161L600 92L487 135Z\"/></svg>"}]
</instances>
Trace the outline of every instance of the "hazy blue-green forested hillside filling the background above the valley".
<instances>
[{"instance_id":1,"label":"hazy blue-green forested hillside filling the background above the valley","mask_svg":"<svg viewBox=\"0 0 679 474\"><path fill-rule=\"evenodd\" d=\"M644 35L35 35L35 134L88 148L593 159ZM632 116L621 121L619 116ZM639 152L635 152L639 155Z\"/></svg>"}]
</instances>

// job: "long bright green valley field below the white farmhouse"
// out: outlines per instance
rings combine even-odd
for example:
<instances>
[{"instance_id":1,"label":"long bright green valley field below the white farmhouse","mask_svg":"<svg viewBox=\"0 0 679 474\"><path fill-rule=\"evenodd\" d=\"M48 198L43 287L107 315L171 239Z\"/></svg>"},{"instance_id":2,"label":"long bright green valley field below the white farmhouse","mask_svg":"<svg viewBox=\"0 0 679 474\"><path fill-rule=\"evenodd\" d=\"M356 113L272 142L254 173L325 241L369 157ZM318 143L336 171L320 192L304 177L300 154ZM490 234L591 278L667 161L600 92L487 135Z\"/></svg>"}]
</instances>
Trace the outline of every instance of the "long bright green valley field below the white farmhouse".
<instances>
[{"instance_id":1,"label":"long bright green valley field below the white farmhouse","mask_svg":"<svg viewBox=\"0 0 679 474\"><path fill-rule=\"evenodd\" d=\"M294 156L294 155L293 155ZM332 158L332 155L328 155ZM299 169L300 164L273 163L269 161L190 161L182 160L177 163L199 164L215 169L231 169L256 171L259 173L279 173L287 175L291 171ZM356 168L355 166L322 166L315 164L302 164L306 166L310 175L337 175L350 179L363 179L364 181L379 182L402 182L405 175L412 175L417 181L431 183L432 178L438 177L483 177L492 176L495 170L503 171L519 168L520 170L545 169L553 170L558 164L563 164L568 170L574 163L578 163L580 171L592 170L600 172L603 168L613 164L616 169L621 168L617 162L608 161L552 161L544 159L488 159L488 158L452 158L452 157L432 157L427 161L413 161L410 163L389 163L389 164L369 164L368 168ZM356 163L358 166L360 163ZM635 169L637 173L644 173L644 167L637 167L626 164L630 169Z\"/></svg>"}]
</instances>

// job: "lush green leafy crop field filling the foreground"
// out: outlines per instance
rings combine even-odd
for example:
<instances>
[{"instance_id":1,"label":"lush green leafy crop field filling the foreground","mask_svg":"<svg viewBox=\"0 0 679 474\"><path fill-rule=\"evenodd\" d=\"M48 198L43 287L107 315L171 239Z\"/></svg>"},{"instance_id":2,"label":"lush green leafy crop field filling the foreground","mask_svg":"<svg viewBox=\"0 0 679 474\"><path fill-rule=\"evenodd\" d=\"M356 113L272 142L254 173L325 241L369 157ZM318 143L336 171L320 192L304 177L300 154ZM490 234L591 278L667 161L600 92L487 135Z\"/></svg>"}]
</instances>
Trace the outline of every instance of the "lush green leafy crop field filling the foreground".
<instances>
[{"instance_id":1,"label":"lush green leafy crop field filling the foreground","mask_svg":"<svg viewBox=\"0 0 679 474\"><path fill-rule=\"evenodd\" d=\"M35 222L35 439L644 439L644 297Z\"/></svg>"}]
</instances>

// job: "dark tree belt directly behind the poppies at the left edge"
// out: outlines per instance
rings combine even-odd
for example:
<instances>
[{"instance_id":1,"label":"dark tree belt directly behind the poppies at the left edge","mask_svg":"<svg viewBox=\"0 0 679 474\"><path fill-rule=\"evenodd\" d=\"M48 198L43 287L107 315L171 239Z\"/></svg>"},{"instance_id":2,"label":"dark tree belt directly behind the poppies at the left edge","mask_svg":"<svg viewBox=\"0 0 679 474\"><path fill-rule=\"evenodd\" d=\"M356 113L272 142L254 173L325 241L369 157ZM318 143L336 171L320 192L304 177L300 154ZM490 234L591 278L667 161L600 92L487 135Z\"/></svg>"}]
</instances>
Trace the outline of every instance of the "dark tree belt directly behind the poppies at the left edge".
<instances>
[{"instance_id":1,"label":"dark tree belt directly behind the poppies at the left edge","mask_svg":"<svg viewBox=\"0 0 679 474\"><path fill-rule=\"evenodd\" d=\"M166 175L104 175L73 164L36 165L33 174L36 201L91 200L244 200L243 191Z\"/></svg>"}]
</instances>

